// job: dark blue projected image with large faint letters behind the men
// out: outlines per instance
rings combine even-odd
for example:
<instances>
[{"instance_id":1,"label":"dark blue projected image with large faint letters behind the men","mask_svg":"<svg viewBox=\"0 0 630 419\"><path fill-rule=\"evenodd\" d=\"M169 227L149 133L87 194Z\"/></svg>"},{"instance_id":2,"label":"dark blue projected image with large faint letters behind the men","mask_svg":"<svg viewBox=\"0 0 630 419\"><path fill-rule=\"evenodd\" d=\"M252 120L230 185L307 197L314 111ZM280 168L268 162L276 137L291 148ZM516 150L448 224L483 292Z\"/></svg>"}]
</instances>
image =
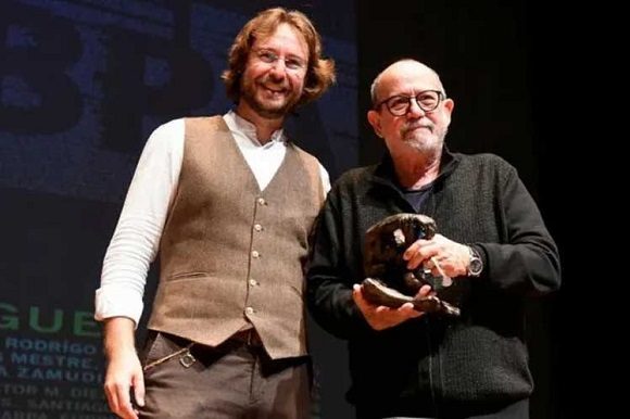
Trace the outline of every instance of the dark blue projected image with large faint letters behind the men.
<instances>
[{"instance_id":1,"label":"dark blue projected image with large faint letters behind the men","mask_svg":"<svg viewBox=\"0 0 630 419\"><path fill-rule=\"evenodd\" d=\"M8 16L0 28L8 34L0 46L0 186L121 202L154 128L231 106L219 76L251 13L201 1L0 8ZM336 4L336 13L340 8L353 15L352 2ZM326 23L317 25L338 84L299 110L288 129L335 178L357 163L356 48L328 36Z\"/></svg>"}]
</instances>

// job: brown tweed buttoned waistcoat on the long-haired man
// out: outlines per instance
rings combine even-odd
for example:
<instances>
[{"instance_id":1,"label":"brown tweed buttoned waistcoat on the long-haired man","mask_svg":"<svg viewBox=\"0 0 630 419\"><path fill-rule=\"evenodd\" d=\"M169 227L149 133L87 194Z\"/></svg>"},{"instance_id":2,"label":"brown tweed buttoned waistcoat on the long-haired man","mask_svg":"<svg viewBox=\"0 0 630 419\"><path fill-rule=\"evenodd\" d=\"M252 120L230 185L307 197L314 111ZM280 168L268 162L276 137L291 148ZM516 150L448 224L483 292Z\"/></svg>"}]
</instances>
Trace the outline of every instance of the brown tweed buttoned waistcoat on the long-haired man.
<instances>
[{"instance_id":1,"label":"brown tweed buttoned waistcoat on the long-haired man","mask_svg":"<svg viewBox=\"0 0 630 419\"><path fill-rule=\"evenodd\" d=\"M216 346L251 325L272 358L305 355L303 266L323 200L318 162L298 147L261 191L220 116L186 119L149 328Z\"/></svg>"}]
</instances>

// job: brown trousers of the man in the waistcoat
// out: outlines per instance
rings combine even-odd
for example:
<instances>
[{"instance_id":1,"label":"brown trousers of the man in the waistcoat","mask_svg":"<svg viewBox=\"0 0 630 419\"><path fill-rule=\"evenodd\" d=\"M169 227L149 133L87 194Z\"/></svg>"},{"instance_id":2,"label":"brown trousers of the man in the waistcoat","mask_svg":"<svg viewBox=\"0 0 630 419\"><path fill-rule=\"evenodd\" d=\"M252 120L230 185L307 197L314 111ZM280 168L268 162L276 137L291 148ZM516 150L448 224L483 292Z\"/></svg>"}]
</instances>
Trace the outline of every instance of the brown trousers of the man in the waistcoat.
<instances>
[{"instance_id":1,"label":"brown trousers of the man in the waistcoat","mask_svg":"<svg viewBox=\"0 0 630 419\"><path fill-rule=\"evenodd\" d=\"M305 419L308 358L270 359L260 341L217 347L152 333L146 348L141 418Z\"/></svg>"}]
</instances>

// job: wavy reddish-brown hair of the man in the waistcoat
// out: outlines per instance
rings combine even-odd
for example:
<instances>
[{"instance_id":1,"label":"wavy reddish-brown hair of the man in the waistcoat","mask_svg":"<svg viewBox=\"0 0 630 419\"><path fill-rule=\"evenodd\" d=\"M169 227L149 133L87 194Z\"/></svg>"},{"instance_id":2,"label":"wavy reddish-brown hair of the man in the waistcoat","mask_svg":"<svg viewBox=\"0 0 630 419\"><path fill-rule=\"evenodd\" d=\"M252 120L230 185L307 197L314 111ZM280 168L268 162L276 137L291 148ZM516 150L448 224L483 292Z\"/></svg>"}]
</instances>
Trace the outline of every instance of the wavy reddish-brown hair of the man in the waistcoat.
<instances>
[{"instance_id":1,"label":"wavy reddish-brown hair of the man in the waistcoat","mask_svg":"<svg viewBox=\"0 0 630 419\"><path fill-rule=\"evenodd\" d=\"M267 9L243 26L229 49L228 68L223 72L220 78L225 82L228 98L236 103L240 100L241 77L252 46L256 39L273 35L284 23L302 34L308 47L308 66L304 78L304 89L298 104L314 101L335 82L335 61L322 58L322 38L308 17L295 10Z\"/></svg>"}]
</instances>

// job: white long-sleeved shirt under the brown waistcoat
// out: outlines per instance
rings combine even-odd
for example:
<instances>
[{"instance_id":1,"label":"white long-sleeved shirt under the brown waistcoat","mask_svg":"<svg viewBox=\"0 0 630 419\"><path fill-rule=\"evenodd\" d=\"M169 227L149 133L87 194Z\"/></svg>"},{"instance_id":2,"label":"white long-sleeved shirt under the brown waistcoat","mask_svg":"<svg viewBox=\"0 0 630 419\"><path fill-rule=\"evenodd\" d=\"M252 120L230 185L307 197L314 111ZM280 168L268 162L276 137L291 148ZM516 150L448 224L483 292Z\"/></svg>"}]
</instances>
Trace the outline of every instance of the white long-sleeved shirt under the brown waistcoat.
<instances>
[{"instance_id":1,"label":"white long-sleeved shirt under the brown waistcoat","mask_svg":"<svg viewBox=\"0 0 630 419\"><path fill-rule=\"evenodd\" d=\"M259 187L264 190L285 158L287 139L284 131L275 131L270 141L263 145L252 123L234 111L223 118ZM101 287L96 293L97 320L122 316L138 325L149 265L158 254L177 190L184 160L184 119L166 123L151 134L144 145L103 261ZM328 192L328 173L322 165L319 169L324 191Z\"/></svg>"}]
</instances>

